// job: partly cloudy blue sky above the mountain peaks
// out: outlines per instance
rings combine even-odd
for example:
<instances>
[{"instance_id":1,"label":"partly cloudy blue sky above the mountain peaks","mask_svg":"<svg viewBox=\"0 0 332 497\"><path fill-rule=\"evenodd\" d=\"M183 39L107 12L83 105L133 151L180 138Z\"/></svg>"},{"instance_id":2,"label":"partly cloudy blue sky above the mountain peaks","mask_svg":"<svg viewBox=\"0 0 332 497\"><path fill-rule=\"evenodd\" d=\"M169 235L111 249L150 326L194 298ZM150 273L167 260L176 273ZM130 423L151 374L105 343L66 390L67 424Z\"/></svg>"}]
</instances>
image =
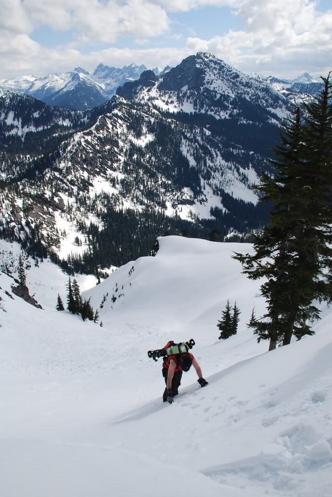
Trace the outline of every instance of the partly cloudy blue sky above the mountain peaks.
<instances>
[{"instance_id":1,"label":"partly cloudy blue sky above the mountain peaks","mask_svg":"<svg viewBox=\"0 0 332 497\"><path fill-rule=\"evenodd\" d=\"M197 52L261 76L326 76L332 0L0 0L0 79Z\"/></svg>"}]
</instances>

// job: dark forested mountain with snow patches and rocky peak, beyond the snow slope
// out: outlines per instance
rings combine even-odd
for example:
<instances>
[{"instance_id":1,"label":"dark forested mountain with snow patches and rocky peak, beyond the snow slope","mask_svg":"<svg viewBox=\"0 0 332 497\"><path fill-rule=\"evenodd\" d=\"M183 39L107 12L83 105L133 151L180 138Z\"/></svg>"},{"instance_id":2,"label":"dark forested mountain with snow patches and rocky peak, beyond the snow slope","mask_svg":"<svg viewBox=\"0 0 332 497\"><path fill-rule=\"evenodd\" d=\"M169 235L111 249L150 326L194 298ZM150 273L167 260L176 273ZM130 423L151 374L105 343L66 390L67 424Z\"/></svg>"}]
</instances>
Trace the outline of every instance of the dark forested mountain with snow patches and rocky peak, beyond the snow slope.
<instances>
[{"instance_id":1,"label":"dark forested mountain with snow patches and rocky peak, beyond the snow slope","mask_svg":"<svg viewBox=\"0 0 332 497\"><path fill-rule=\"evenodd\" d=\"M90 110L5 91L0 236L101 275L148 255L159 235L240 239L266 223L252 185L273 172L266 158L290 105L208 53L141 71Z\"/></svg>"}]
</instances>

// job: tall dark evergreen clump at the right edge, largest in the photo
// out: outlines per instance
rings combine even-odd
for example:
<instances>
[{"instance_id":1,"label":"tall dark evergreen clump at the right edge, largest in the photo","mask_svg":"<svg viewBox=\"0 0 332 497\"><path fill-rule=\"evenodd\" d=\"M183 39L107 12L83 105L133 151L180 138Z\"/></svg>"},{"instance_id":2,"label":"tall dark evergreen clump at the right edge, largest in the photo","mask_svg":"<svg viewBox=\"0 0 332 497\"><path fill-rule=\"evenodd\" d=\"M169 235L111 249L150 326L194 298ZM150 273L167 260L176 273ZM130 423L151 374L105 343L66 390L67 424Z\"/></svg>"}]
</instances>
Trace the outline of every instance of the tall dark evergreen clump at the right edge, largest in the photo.
<instances>
[{"instance_id":1,"label":"tall dark evergreen clump at the right edge, largest in the photo","mask_svg":"<svg viewBox=\"0 0 332 497\"><path fill-rule=\"evenodd\" d=\"M255 254L235 255L249 278L266 278L267 312L250 326L258 341L270 340L269 350L292 334L313 334L306 321L319 319L319 310L312 302L332 298L332 88L329 77L323 80L307 116L297 108L284 125L274 177L262 174L258 189L273 212L255 237Z\"/></svg>"}]
</instances>

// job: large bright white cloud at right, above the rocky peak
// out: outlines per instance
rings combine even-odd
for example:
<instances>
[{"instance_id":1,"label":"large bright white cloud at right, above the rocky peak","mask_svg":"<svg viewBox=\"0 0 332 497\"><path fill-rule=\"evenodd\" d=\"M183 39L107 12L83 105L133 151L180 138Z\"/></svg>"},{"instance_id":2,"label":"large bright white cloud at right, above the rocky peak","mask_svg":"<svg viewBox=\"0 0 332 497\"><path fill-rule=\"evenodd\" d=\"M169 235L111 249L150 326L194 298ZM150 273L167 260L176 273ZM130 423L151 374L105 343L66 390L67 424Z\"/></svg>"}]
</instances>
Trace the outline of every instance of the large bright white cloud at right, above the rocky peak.
<instances>
[{"instance_id":1,"label":"large bright white cloud at right, above the rocky peak","mask_svg":"<svg viewBox=\"0 0 332 497\"><path fill-rule=\"evenodd\" d=\"M317 2L309 0L244 0L238 7L245 31L189 38L192 51L212 52L245 72L291 77L331 70L332 10L319 12Z\"/></svg>"}]
</instances>

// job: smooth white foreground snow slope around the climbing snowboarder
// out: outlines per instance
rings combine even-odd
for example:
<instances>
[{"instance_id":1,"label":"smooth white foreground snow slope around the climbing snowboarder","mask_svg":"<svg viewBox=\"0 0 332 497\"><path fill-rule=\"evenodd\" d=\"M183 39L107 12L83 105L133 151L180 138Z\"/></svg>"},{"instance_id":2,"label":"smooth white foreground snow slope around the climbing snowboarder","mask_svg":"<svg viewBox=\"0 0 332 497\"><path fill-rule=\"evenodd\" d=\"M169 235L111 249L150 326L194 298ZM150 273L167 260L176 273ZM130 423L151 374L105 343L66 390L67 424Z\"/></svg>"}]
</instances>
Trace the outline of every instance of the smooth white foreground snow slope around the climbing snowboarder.
<instances>
[{"instance_id":1,"label":"smooth white foreground snow slope around the climbing snowboarder","mask_svg":"<svg viewBox=\"0 0 332 497\"><path fill-rule=\"evenodd\" d=\"M331 309L316 336L266 352L246 327L253 305L264 309L259 284L231 259L251 246L159 243L156 257L85 292L95 308L105 295L103 328L55 311L42 292L44 310L11 299L0 273L1 496L329 495ZM219 341L227 299L241 322ZM209 385L191 370L163 404L161 361L146 352L191 337Z\"/></svg>"}]
</instances>

